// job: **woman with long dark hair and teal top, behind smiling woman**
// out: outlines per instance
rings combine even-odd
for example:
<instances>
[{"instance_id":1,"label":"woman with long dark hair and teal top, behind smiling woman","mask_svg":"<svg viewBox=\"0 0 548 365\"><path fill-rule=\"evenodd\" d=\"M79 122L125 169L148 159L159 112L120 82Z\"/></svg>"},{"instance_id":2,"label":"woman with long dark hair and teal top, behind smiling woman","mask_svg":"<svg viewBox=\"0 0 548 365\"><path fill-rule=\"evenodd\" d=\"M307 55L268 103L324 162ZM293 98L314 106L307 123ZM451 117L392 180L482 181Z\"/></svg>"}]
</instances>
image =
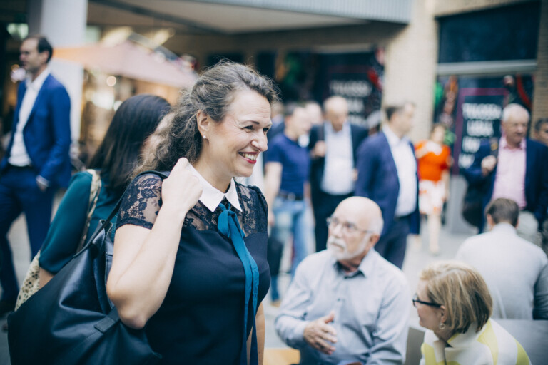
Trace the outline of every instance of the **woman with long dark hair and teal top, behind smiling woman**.
<instances>
[{"instance_id":1,"label":"woman with long dark hair and teal top, behind smiling woman","mask_svg":"<svg viewBox=\"0 0 548 365\"><path fill-rule=\"evenodd\" d=\"M108 217L126 190L138 157L143 153L143 144L169 109L165 99L143 94L128 98L116 110L103 142L89 163L89 168L100 173L102 187L87 230L88 237L96 230L99 220ZM40 287L76 252L86 225L91 180L91 174L86 171L76 173L61 200L41 248Z\"/></svg>"}]
</instances>

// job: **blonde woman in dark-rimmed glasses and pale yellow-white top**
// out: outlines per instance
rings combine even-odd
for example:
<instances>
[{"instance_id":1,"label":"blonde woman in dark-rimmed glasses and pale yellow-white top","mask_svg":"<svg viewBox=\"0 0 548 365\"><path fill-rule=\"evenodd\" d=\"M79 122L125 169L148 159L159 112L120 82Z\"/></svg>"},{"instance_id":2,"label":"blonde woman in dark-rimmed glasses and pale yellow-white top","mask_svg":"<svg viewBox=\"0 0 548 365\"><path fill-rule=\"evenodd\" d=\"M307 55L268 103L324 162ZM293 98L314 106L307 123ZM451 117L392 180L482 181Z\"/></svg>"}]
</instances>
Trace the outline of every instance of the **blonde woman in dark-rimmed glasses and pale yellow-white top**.
<instances>
[{"instance_id":1,"label":"blonde woman in dark-rimmed glasses and pale yellow-white top","mask_svg":"<svg viewBox=\"0 0 548 365\"><path fill-rule=\"evenodd\" d=\"M413 305L428 329L420 365L529 365L511 334L493 319L480 272L460 262L437 262L420 272Z\"/></svg>"}]
</instances>

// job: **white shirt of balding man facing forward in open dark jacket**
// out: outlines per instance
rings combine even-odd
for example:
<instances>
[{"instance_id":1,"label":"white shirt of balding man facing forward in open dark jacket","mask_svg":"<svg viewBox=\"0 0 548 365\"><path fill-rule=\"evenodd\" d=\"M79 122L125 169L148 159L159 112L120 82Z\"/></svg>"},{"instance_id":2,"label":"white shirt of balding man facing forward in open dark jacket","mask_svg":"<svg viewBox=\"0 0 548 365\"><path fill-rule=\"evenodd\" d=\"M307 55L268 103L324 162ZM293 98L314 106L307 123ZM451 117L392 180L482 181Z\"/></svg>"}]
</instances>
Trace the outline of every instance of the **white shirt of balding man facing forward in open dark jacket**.
<instances>
[{"instance_id":1,"label":"white shirt of balding man facing forward in open dark jacket","mask_svg":"<svg viewBox=\"0 0 548 365\"><path fill-rule=\"evenodd\" d=\"M336 132L331 123L325 123L325 165L321 188L331 195L345 195L354 191L354 155L352 133L345 123Z\"/></svg>"}]
</instances>

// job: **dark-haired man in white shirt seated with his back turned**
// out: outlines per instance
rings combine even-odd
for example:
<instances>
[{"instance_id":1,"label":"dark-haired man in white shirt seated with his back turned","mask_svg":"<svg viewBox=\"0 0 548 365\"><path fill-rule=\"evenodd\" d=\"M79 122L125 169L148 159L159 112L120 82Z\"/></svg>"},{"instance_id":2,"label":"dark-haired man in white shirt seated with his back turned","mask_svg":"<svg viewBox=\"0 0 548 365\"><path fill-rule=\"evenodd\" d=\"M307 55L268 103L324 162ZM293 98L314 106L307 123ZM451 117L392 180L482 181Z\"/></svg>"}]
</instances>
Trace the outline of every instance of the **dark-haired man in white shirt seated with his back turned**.
<instances>
[{"instance_id":1,"label":"dark-haired man in white shirt seated with his back turned","mask_svg":"<svg viewBox=\"0 0 548 365\"><path fill-rule=\"evenodd\" d=\"M517 235L519 206L498 198L485 213L490 232L467 239L455 258L482 274L493 297L493 318L548 319L548 259Z\"/></svg>"}]
</instances>

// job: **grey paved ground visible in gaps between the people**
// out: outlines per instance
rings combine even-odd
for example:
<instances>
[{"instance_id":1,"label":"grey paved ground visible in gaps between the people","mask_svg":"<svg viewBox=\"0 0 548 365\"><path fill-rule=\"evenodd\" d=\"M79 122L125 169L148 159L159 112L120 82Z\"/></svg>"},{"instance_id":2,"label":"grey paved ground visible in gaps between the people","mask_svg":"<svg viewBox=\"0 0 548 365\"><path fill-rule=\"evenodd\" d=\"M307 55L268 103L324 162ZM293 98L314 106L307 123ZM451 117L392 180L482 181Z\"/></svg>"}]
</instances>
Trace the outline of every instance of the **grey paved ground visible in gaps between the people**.
<instances>
[{"instance_id":1,"label":"grey paved ground visible in gaps between the people","mask_svg":"<svg viewBox=\"0 0 548 365\"><path fill-rule=\"evenodd\" d=\"M57 200L59 201L59 199ZM415 292L415 287L417 284L417 275L420 272L422 267L425 267L430 262L436 259L451 259L455 256L457 248L462 243L468 235L454 235L447 232L447 230L442 230L440 238L440 255L433 257L427 251L427 237L423 238L423 244L421 250L416 250L409 245L407 250L407 255L405 257L405 262L403 266L403 271L405 272L407 279L410 284L410 292ZM14 223L14 226L11 228L9 234L9 240L11 242L11 247L14 252L14 262L16 264L17 277L20 281L24 279L26 274L26 269L30 263L30 252L29 252L29 240L26 235L26 223L24 217L19 217L18 220ZM288 267L288 255L285 255L283 267ZM289 277L287 274L281 275L280 279L280 293L283 295L285 288L288 285ZM411 298L410 298L411 299ZM410 305L411 300L410 300ZM278 308L270 305L270 300L267 298L264 302L265 307L265 317L266 317L266 347L285 347L282 341L275 334L273 322L276 314L278 313ZM411 311L411 321L416 319L415 310ZM0 323L4 323L3 319ZM9 351L7 344L7 335L5 332L0 331L0 365L9 364Z\"/></svg>"}]
</instances>

